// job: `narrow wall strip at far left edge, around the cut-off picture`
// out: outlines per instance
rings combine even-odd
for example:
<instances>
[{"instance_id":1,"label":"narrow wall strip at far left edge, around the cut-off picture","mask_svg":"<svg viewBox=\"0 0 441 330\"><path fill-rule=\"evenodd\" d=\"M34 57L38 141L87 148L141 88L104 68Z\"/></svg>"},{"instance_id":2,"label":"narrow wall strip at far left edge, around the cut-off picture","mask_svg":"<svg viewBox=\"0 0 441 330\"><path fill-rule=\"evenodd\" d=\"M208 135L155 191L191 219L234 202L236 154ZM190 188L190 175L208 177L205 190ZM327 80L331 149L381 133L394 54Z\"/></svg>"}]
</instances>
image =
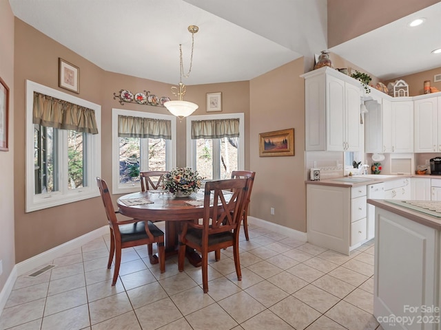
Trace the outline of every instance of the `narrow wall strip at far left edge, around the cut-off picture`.
<instances>
[{"instance_id":1,"label":"narrow wall strip at far left edge, around the cut-off picture","mask_svg":"<svg viewBox=\"0 0 441 330\"><path fill-rule=\"evenodd\" d=\"M9 151L0 151L0 292L15 265L14 252L14 14L8 1L0 1L0 77L10 89Z\"/></svg>"}]
</instances>

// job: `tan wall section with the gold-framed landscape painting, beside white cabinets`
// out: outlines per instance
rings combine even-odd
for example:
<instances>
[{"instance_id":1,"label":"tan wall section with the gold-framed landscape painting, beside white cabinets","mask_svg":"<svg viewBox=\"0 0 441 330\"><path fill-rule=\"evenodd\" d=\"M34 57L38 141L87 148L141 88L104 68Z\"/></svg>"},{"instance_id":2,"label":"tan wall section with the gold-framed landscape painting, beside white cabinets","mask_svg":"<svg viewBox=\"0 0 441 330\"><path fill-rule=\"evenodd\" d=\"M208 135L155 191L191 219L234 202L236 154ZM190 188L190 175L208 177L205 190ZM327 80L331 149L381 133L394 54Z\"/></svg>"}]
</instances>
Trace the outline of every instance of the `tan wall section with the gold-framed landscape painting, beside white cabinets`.
<instances>
[{"instance_id":1,"label":"tan wall section with the gold-framed landscape painting, beside white cabinets","mask_svg":"<svg viewBox=\"0 0 441 330\"><path fill-rule=\"evenodd\" d=\"M256 171L251 215L306 232L303 58L250 82L250 169ZM294 157L259 157L259 133L294 128ZM275 214L270 215L270 208Z\"/></svg>"}]
</instances>

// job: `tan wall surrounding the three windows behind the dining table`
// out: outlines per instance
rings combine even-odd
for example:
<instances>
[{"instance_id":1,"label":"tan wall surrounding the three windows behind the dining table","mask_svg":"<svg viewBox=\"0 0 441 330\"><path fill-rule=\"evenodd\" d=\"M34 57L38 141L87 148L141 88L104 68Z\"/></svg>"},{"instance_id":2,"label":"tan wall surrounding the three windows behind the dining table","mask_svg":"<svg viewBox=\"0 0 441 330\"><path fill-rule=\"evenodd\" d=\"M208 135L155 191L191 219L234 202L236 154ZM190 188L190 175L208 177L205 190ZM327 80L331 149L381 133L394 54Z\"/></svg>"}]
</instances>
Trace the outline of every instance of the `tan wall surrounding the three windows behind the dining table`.
<instances>
[{"instance_id":1,"label":"tan wall surrounding the three windows behind the dining table","mask_svg":"<svg viewBox=\"0 0 441 330\"><path fill-rule=\"evenodd\" d=\"M112 188L112 108L131 109L152 113L168 113L163 107L141 104L120 104L114 100L114 93L121 89L133 92L150 91L158 96L170 96L170 87L165 83L141 79L123 74L105 72L85 58L68 50L54 40L38 32L30 25L15 19L15 90L17 114L14 125L14 138L17 148L15 153L15 262L35 256L57 245L70 241L82 234L107 224L105 212L99 198L88 199L63 206L25 213L25 80L32 80L41 85L70 91L58 87L58 58L61 57L80 68L80 94L72 94L101 104L102 158L101 177ZM176 83L178 83L176 81ZM223 96L222 113L243 112L249 128L249 82L197 85L187 87L185 100L199 104L195 115L206 114L206 93L220 91ZM185 165L185 119L177 123L178 166ZM245 136L245 146L249 140ZM0 155L1 156L1 155ZM12 164L12 160L11 160ZM246 153L245 165L249 164ZM11 166L12 167L12 166ZM19 173L19 174L17 174ZM114 200L116 200L116 195ZM97 207L98 206L98 207ZM12 220L11 220L12 221ZM11 235L12 236L12 235ZM0 252L1 253L1 252ZM13 259L12 255L12 259Z\"/></svg>"}]
</instances>

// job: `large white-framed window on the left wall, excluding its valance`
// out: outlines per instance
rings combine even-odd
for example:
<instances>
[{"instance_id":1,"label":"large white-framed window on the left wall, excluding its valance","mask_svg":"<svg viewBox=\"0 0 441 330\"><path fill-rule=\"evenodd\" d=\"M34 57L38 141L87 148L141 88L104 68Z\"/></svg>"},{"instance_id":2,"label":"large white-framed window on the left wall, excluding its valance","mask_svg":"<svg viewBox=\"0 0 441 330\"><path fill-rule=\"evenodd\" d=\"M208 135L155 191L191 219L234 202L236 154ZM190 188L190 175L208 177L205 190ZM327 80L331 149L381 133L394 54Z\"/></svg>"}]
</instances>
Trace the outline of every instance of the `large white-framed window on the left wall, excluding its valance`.
<instances>
[{"instance_id":1,"label":"large white-framed window on the left wall, excluding its valance","mask_svg":"<svg viewBox=\"0 0 441 330\"><path fill-rule=\"evenodd\" d=\"M26 82L25 212L99 196L101 175L101 106L62 91ZM93 111L97 134L34 124L34 92Z\"/></svg>"}]
</instances>

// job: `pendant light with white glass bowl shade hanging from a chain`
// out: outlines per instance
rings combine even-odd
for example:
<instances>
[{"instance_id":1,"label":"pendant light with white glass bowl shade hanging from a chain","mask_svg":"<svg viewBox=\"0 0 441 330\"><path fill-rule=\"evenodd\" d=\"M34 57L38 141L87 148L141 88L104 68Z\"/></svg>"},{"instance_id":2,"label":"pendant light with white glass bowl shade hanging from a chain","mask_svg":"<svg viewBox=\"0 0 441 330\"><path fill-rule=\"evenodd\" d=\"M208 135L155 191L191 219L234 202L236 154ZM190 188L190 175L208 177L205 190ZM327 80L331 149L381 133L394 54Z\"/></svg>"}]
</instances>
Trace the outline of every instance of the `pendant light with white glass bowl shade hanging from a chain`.
<instances>
[{"instance_id":1,"label":"pendant light with white glass bowl shade hanging from a chain","mask_svg":"<svg viewBox=\"0 0 441 330\"><path fill-rule=\"evenodd\" d=\"M199 28L196 25L189 25L188 32L192 34L192 56L190 57L190 66L188 73L184 74L184 65L182 61L182 45L179 45L179 67L180 67L180 80L178 87L172 87L172 94L178 97L178 100L164 102L164 107L167 108L173 115L176 115L180 120L191 115L198 109L198 104L193 102L184 101L185 85L182 83L182 76L188 78L190 72L192 72L193 65L193 48L194 48L194 34L198 32Z\"/></svg>"}]
</instances>

